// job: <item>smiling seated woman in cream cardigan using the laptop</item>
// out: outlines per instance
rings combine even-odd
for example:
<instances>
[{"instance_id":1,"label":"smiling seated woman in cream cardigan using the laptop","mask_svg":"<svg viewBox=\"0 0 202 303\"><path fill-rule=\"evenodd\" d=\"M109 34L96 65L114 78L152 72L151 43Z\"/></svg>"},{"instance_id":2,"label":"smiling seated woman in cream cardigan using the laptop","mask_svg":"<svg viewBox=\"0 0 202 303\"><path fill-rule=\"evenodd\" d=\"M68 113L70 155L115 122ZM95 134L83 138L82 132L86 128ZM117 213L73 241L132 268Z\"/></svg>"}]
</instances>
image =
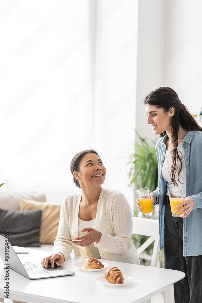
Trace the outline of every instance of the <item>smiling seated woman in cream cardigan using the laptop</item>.
<instances>
[{"instance_id":1,"label":"smiling seated woman in cream cardigan using the laptop","mask_svg":"<svg viewBox=\"0 0 202 303\"><path fill-rule=\"evenodd\" d=\"M82 192L68 195L61 205L53 254L43 258L60 265L74 248L75 255L140 264L131 240L132 212L123 194L104 189L106 168L98 153L85 150L71 161L73 181Z\"/></svg>"}]
</instances>

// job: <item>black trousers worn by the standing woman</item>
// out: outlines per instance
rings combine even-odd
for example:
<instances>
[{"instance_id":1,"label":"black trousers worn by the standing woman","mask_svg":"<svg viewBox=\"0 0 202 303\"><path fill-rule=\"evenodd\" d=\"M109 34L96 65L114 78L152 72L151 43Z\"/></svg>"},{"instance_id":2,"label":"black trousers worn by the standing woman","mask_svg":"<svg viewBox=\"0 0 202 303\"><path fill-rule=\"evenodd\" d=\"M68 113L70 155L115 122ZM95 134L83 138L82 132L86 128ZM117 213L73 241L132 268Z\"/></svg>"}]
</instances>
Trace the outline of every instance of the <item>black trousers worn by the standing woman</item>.
<instances>
[{"instance_id":1,"label":"black trousers worn by the standing woman","mask_svg":"<svg viewBox=\"0 0 202 303\"><path fill-rule=\"evenodd\" d=\"M183 218L172 216L169 201L165 206L164 222L164 266L186 274L174 283L175 303L202 303L202 255L183 256Z\"/></svg>"}]
</instances>

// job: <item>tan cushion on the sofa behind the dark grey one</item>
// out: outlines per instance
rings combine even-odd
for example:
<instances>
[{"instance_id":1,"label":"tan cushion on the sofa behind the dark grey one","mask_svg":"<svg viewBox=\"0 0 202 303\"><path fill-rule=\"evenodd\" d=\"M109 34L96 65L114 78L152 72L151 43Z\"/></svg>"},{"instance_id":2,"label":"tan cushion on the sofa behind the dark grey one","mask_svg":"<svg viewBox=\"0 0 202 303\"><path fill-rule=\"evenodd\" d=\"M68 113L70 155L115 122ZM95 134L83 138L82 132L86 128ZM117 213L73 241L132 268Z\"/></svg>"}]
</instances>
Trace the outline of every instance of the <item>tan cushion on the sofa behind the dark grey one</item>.
<instances>
[{"instance_id":1,"label":"tan cushion on the sofa behind the dark grey one","mask_svg":"<svg viewBox=\"0 0 202 303\"><path fill-rule=\"evenodd\" d=\"M23 199L20 202L20 210L41 209L41 231L40 242L45 244L53 244L58 233L58 225L60 221L61 205L48 204L46 202L35 202Z\"/></svg>"}]
</instances>

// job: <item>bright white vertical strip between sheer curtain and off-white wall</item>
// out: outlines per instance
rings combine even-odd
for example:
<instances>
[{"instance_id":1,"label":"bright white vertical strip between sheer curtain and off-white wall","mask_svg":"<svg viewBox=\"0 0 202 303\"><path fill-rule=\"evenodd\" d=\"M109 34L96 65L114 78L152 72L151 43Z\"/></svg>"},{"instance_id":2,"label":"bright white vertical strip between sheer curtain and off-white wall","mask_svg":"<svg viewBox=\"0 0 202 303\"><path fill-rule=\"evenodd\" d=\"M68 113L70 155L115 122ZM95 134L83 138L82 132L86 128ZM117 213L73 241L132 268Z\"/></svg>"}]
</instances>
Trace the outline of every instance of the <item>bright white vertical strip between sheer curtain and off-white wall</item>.
<instances>
[{"instance_id":1,"label":"bright white vertical strip between sheer curtain and off-white wall","mask_svg":"<svg viewBox=\"0 0 202 303\"><path fill-rule=\"evenodd\" d=\"M107 166L104 187L121 191L133 206L127 162L135 137L138 2L119 2L106 16L114 1L97 1L94 68L103 75L94 90L94 144Z\"/></svg>"}]
</instances>

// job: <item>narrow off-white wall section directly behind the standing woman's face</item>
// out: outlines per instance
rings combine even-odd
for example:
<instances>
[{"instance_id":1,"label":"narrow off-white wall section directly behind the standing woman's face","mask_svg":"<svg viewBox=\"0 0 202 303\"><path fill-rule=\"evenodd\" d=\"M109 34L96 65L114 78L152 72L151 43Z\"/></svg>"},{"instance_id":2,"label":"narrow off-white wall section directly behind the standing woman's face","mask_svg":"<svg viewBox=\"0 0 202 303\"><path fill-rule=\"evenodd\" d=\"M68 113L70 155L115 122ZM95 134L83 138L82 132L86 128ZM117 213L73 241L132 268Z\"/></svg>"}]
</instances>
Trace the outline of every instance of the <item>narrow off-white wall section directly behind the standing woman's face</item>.
<instances>
[{"instance_id":1,"label":"narrow off-white wall section directly behind the standing woman's face","mask_svg":"<svg viewBox=\"0 0 202 303\"><path fill-rule=\"evenodd\" d=\"M155 68L165 52L165 13L164 0L139 1L138 32L141 36L137 42L137 83L141 89L137 92L135 128L142 137L154 140L158 137L147 125L146 109L141 100L151 90L165 85L164 69L157 71ZM148 29L145 31L144 27Z\"/></svg>"}]
</instances>

